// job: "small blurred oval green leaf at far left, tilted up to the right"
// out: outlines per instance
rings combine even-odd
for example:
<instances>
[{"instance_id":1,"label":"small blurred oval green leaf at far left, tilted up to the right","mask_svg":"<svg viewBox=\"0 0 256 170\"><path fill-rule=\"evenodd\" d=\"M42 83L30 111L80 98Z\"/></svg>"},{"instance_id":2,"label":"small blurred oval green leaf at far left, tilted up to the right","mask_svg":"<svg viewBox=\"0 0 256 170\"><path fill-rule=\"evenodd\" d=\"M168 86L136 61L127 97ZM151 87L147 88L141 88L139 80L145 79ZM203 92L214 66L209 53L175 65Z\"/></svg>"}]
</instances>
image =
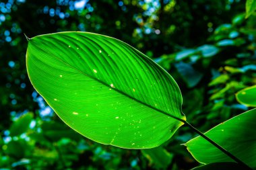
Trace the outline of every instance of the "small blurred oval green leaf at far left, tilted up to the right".
<instances>
[{"instance_id":1,"label":"small blurred oval green leaf at far left, tilted up to the right","mask_svg":"<svg viewBox=\"0 0 256 170\"><path fill-rule=\"evenodd\" d=\"M10 136L19 136L20 134L26 132L30 127L30 122L33 119L32 113L27 113L18 118L11 127L9 128Z\"/></svg>"}]
</instances>

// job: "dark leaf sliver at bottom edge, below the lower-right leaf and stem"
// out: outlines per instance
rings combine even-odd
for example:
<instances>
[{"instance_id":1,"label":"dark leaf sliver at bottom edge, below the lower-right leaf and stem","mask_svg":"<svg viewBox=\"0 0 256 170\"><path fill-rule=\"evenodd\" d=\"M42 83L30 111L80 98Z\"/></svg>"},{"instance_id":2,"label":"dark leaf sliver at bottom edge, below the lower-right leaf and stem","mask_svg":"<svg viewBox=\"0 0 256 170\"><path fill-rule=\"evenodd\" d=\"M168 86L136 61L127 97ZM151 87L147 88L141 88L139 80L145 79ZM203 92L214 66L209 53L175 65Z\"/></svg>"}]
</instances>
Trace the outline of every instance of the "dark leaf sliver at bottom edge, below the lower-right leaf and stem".
<instances>
[{"instance_id":1,"label":"dark leaf sliver at bottom edge, below the lower-right leaf and stem","mask_svg":"<svg viewBox=\"0 0 256 170\"><path fill-rule=\"evenodd\" d=\"M232 169L232 170L241 170L243 167L239 165L238 163L210 163L207 165L203 165L200 167L195 167L192 170L227 170L227 169Z\"/></svg>"}]
</instances>

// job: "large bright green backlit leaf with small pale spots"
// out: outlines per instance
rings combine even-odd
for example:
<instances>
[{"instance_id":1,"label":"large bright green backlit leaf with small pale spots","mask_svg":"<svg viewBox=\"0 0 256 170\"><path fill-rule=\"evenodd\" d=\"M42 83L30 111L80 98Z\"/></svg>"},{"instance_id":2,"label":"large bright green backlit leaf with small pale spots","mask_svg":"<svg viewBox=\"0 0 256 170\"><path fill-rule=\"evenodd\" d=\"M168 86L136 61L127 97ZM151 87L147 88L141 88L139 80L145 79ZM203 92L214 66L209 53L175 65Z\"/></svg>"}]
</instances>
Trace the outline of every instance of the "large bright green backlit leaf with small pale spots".
<instances>
[{"instance_id":1,"label":"large bright green backlit leaf with small pale spots","mask_svg":"<svg viewBox=\"0 0 256 170\"><path fill-rule=\"evenodd\" d=\"M152 148L183 125L181 91L135 48L107 36L63 32L29 40L32 85L80 134L122 148Z\"/></svg>"}]
</instances>

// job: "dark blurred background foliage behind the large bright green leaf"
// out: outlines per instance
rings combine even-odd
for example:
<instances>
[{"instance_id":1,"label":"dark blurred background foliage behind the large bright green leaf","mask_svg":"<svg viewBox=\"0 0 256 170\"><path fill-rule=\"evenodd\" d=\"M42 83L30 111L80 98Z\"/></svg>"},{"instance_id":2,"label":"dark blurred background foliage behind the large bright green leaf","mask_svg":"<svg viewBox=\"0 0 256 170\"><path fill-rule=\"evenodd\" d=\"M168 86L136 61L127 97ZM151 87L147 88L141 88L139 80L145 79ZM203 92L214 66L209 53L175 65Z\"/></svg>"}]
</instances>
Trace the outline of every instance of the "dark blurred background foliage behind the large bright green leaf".
<instances>
[{"instance_id":1,"label":"dark blurred background foliage behind the large bright green leaf","mask_svg":"<svg viewBox=\"0 0 256 170\"><path fill-rule=\"evenodd\" d=\"M0 169L197 166L181 146L195 136L187 127L143 151L98 144L68 128L28 80L24 33L86 31L131 44L174 77L188 122L205 132L250 109L235 97L256 84L256 15L248 7L246 14L245 5L241 0L1 0Z\"/></svg>"}]
</instances>

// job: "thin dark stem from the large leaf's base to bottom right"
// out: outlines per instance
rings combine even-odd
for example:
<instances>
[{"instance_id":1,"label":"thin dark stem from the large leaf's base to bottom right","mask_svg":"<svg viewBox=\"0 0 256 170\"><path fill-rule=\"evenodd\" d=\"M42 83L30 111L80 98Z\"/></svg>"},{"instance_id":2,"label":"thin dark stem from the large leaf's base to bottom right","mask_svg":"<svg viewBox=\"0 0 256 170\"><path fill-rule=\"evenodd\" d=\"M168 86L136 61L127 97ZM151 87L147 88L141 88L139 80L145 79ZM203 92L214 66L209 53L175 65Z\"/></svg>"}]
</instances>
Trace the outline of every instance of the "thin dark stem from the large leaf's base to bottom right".
<instances>
[{"instance_id":1,"label":"thin dark stem from the large leaf's base to bottom right","mask_svg":"<svg viewBox=\"0 0 256 170\"><path fill-rule=\"evenodd\" d=\"M214 140L208 138L207 136L205 136L205 134L203 134L202 132L200 132L199 130L197 130L196 128L194 128L191 124L189 124L189 122L187 121L183 121L183 123L187 126L189 126L189 128L191 128L191 130L193 130L194 132L196 132L197 134L199 134L201 137L203 137L205 140L207 140L208 142L210 142L211 144L213 144L214 146L216 146L216 148L218 148L220 151L222 151L222 153L224 153L225 155L227 155L228 157L230 157L231 159L233 159L234 161L236 161L236 163L240 164L241 166L245 167L245 169L248 170L252 170L251 167L249 167L248 165L246 165L243 161L241 161L240 159L238 159L237 157L235 157L234 155L232 155L232 153L228 152L225 148L222 148L222 146L220 146L219 144L217 144L216 142L214 142Z\"/></svg>"}]
</instances>

